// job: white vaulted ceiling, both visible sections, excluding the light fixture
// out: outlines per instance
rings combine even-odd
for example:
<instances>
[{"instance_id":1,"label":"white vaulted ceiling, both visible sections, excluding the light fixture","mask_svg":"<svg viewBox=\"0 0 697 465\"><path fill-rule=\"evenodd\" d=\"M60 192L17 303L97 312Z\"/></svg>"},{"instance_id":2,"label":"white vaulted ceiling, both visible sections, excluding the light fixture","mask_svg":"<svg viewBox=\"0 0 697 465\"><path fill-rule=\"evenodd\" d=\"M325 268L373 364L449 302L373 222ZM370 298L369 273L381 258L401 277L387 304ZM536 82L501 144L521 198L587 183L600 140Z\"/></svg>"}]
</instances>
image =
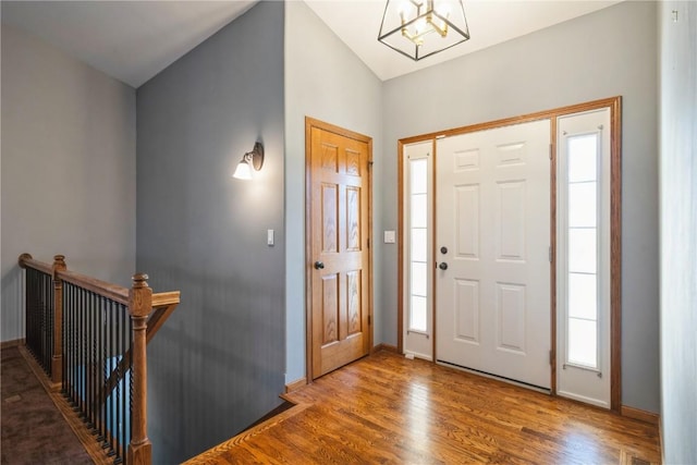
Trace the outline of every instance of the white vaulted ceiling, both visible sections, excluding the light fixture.
<instances>
[{"instance_id":1,"label":"white vaulted ceiling, both visible sections, excluding the light fixture","mask_svg":"<svg viewBox=\"0 0 697 465\"><path fill-rule=\"evenodd\" d=\"M299 1L299 0L298 0ZM256 1L2 1L2 22L138 87ZM617 3L464 0L472 38L414 62L377 36L384 0L307 0L380 79L389 79Z\"/></svg>"}]
</instances>

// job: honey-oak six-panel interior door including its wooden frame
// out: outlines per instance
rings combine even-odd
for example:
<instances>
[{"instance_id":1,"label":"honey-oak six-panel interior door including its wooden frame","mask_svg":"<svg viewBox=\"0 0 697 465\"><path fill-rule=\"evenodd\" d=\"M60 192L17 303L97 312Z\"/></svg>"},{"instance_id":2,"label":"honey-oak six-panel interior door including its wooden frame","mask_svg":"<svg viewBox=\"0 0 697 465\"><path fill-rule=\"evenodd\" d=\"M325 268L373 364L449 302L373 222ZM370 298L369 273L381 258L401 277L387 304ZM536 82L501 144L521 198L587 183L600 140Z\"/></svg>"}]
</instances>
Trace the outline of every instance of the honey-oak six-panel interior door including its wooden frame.
<instances>
[{"instance_id":1,"label":"honey-oak six-panel interior door including its wooden frame","mask_svg":"<svg viewBox=\"0 0 697 465\"><path fill-rule=\"evenodd\" d=\"M372 344L369 137L306 121L308 379Z\"/></svg>"}]
</instances>

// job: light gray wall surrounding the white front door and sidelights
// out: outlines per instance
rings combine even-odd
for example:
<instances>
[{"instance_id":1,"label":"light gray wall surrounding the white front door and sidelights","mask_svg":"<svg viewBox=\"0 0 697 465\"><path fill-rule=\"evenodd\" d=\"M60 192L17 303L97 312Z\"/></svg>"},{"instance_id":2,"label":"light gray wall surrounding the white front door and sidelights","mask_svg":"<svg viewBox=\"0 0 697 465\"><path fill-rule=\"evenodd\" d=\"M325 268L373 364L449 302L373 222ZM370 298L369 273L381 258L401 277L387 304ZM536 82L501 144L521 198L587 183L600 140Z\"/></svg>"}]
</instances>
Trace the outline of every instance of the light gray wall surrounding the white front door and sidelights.
<instances>
[{"instance_id":1,"label":"light gray wall surrounding the white front door and sidelights","mask_svg":"<svg viewBox=\"0 0 697 465\"><path fill-rule=\"evenodd\" d=\"M659 412L656 66L656 4L623 2L388 81L381 180L383 225L396 229L399 138L621 95L622 399L650 412ZM382 339L391 344L396 253L386 248L382 260Z\"/></svg>"}]
</instances>

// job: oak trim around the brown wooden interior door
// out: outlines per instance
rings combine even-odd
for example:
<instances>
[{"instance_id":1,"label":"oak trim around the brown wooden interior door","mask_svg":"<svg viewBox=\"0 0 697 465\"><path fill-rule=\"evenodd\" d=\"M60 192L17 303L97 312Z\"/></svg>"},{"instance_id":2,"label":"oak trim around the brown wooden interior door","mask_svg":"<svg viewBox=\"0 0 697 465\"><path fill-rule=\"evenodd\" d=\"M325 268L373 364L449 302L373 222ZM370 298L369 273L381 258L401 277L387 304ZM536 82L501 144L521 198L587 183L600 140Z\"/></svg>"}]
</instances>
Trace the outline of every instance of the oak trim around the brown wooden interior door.
<instances>
[{"instance_id":1,"label":"oak trim around the brown wooden interior door","mask_svg":"<svg viewBox=\"0 0 697 465\"><path fill-rule=\"evenodd\" d=\"M372 137L366 136L344 127L326 123L310 117L305 117L305 377L307 382L313 382L313 264L311 264L311 131L313 127L331 132L343 137L366 143L368 145L368 167L366 170L368 186L368 320L369 328L368 346L372 350Z\"/></svg>"}]
</instances>

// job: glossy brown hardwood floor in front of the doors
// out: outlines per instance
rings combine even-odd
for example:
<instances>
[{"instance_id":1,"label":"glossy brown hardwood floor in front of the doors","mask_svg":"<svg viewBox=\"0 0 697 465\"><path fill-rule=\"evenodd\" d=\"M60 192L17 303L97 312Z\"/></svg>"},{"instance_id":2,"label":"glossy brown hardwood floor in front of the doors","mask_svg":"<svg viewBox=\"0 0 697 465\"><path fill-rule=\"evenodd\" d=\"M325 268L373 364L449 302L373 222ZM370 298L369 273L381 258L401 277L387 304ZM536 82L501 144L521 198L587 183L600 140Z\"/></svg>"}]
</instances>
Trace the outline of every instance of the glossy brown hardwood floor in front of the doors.
<instances>
[{"instance_id":1,"label":"glossy brown hardwood floor in front of the doors","mask_svg":"<svg viewBox=\"0 0 697 465\"><path fill-rule=\"evenodd\" d=\"M655 425L387 351L286 397L187 463L660 463Z\"/></svg>"}]
</instances>

